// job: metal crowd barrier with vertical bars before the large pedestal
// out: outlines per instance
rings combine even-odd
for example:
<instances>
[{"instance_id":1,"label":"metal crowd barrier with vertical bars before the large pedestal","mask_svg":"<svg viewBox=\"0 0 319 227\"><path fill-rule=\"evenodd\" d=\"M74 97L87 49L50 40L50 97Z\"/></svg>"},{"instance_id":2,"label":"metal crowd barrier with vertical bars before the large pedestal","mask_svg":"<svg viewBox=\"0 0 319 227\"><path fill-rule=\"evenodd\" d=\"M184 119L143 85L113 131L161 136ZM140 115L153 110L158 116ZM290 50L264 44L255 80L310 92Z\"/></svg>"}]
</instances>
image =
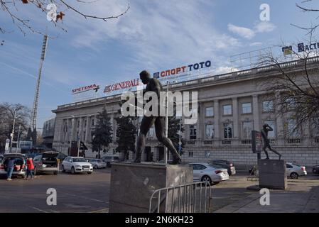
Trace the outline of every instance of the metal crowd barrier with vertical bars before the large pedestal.
<instances>
[{"instance_id":1,"label":"metal crowd barrier with vertical bars before the large pedestal","mask_svg":"<svg viewBox=\"0 0 319 227\"><path fill-rule=\"evenodd\" d=\"M211 205L210 183L195 182L155 190L149 201L149 213L210 213Z\"/></svg>"}]
</instances>

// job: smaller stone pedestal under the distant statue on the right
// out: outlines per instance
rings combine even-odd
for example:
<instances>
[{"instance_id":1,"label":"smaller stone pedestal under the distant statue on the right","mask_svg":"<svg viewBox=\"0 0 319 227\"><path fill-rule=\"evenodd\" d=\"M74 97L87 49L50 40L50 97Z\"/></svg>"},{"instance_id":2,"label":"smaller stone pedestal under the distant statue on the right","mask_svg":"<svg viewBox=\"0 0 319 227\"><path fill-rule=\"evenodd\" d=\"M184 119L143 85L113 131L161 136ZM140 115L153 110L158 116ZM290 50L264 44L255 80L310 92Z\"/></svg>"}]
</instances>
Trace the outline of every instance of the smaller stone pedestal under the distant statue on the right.
<instances>
[{"instance_id":1,"label":"smaller stone pedestal under the distant statue on the right","mask_svg":"<svg viewBox=\"0 0 319 227\"><path fill-rule=\"evenodd\" d=\"M286 162L284 160L258 160L259 187L287 188Z\"/></svg>"}]
</instances>

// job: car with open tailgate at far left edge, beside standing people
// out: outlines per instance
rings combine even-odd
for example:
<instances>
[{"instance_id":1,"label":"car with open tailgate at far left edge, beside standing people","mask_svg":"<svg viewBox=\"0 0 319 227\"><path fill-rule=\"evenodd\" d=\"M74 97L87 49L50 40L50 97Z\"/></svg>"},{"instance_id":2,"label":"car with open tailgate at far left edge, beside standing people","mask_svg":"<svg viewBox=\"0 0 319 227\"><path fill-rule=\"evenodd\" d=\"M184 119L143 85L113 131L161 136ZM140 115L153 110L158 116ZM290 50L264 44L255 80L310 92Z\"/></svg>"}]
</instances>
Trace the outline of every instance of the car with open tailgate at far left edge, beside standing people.
<instances>
[{"instance_id":1,"label":"car with open tailgate at far left edge, beside standing people","mask_svg":"<svg viewBox=\"0 0 319 227\"><path fill-rule=\"evenodd\" d=\"M9 160L14 159L14 169L12 176L24 177L26 175L26 155L20 153L4 154L0 164L0 175L6 175Z\"/></svg>"}]
</instances>

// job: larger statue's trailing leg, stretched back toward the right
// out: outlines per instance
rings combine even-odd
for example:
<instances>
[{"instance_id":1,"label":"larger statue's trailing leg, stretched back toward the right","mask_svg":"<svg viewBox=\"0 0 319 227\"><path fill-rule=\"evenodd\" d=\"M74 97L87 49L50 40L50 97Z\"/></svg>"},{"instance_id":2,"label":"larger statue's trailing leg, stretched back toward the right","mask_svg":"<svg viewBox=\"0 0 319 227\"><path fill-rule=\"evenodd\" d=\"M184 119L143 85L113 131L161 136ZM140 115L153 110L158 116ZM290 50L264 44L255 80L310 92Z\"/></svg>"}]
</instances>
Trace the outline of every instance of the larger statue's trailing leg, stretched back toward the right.
<instances>
[{"instance_id":1,"label":"larger statue's trailing leg, stretched back toward the right","mask_svg":"<svg viewBox=\"0 0 319 227\"><path fill-rule=\"evenodd\" d=\"M180 163L180 155L178 154L177 150L175 149L172 141L167 138L164 134L164 127L165 126L165 118L163 116L157 117L155 121L155 132L158 141L163 143L163 145L168 148L173 156L173 162L171 164L179 164Z\"/></svg>"}]
</instances>

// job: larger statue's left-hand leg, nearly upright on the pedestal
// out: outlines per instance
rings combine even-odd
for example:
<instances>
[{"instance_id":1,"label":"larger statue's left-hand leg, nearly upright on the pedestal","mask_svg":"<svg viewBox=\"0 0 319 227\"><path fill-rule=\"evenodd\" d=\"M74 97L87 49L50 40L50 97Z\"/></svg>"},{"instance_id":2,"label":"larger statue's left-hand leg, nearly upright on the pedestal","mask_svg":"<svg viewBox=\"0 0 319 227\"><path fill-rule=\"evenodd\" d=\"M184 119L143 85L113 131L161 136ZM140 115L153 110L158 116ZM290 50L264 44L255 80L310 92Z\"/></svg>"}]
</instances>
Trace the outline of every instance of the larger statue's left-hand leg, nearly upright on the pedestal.
<instances>
[{"instance_id":1,"label":"larger statue's left-hand leg, nearly upright on the pedestal","mask_svg":"<svg viewBox=\"0 0 319 227\"><path fill-rule=\"evenodd\" d=\"M145 137L149 128L151 128L151 126L153 125L154 121L155 118L147 116L144 116L141 121L139 136L136 141L136 157L134 162L141 162L141 153L145 148Z\"/></svg>"}]
</instances>

